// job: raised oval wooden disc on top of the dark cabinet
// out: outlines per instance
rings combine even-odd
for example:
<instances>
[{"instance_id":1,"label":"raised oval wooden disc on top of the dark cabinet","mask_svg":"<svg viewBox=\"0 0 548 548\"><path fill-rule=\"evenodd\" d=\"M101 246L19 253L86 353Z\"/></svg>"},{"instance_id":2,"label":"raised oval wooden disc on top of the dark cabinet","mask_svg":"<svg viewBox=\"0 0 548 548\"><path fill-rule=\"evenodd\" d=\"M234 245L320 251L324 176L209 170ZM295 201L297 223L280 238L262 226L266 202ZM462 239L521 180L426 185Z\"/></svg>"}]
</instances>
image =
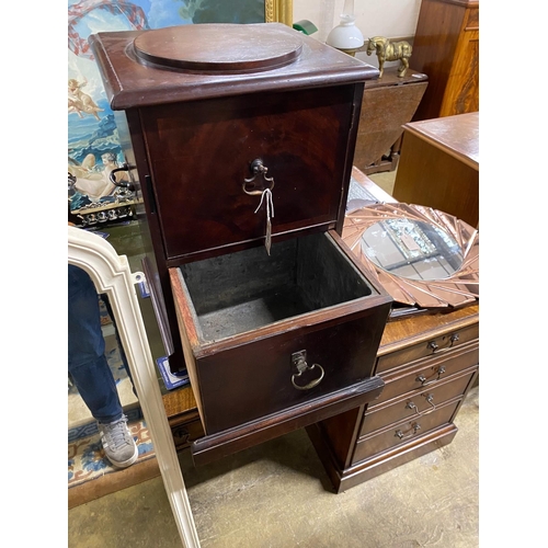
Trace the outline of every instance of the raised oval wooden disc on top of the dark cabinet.
<instances>
[{"instance_id":1,"label":"raised oval wooden disc on top of the dark cabinet","mask_svg":"<svg viewBox=\"0 0 548 548\"><path fill-rule=\"evenodd\" d=\"M134 41L147 62L193 72L259 72L295 61L299 35L264 24L195 24L147 31ZM220 39L219 39L220 37Z\"/></svg>"}]
</instances>

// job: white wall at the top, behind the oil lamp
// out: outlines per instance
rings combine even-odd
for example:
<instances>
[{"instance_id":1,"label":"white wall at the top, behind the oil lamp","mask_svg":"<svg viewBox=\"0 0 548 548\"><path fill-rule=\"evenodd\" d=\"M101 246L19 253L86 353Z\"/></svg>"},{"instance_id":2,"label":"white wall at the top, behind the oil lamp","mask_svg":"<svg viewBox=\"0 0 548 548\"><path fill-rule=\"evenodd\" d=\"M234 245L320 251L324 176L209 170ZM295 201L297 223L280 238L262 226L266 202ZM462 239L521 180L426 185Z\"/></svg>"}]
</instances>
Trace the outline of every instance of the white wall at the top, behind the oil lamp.
<instances>
[{"instance_id":1,"label":"white wall at the top, behind the oil lamp","mask_svg":"<svg viewBox=\"0 0 548 548\"><path fill-rule=\"evenodd\" d=\"M343 8L344 0L293 0L293 20L311 21L318 27L312 36L324 42ZM365 39L413 36L420 8L421 0L354 0L356 25Z\"/></svg>"}]
</instances>

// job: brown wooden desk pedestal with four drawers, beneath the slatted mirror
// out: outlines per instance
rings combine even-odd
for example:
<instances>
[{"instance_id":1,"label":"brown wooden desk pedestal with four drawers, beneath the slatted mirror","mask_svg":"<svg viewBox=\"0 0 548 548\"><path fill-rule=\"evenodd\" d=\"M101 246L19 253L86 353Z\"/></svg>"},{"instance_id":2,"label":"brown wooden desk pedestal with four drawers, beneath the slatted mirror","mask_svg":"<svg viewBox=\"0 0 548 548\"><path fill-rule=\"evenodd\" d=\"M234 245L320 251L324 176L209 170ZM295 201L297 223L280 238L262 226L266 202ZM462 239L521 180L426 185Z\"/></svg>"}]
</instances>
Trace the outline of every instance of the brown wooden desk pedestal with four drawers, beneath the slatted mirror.
<instances>
[{"instance_id":1,"label":"brown wooden desk pedestal with four drawers, beneath the slatted mirror","mask_svg":"<svg viewBox=\"0 0 548 548\"><path fill-rule=\"evenodd\" d=\"M389 322L375 368L380 397L307 427L335 491L449 444L478 363L479 305Z\"/></svg>"}]
</instances>

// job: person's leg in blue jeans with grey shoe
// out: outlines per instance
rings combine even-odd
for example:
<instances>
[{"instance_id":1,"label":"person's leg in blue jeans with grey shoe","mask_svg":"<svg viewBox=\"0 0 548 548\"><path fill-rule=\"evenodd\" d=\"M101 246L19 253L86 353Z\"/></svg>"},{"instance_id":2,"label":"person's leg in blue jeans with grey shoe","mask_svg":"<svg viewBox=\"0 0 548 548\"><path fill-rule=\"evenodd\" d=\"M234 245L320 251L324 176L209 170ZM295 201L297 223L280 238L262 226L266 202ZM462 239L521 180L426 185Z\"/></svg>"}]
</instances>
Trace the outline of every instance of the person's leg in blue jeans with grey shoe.
<instances>
[{"instance_id":1,"label":"person's leg in blue jeans with grey shoe","mask_svg":"<svg viewBox=\"0 0 548 548\"><path fill-rule=\"evenodd\" d=\"M116 384L104 355L99 296L90 276L68 267L68 369L99 422L101 442L109 460L125 468L137 459L138 449L124 415Z\"/></svg>"}]
</instances>

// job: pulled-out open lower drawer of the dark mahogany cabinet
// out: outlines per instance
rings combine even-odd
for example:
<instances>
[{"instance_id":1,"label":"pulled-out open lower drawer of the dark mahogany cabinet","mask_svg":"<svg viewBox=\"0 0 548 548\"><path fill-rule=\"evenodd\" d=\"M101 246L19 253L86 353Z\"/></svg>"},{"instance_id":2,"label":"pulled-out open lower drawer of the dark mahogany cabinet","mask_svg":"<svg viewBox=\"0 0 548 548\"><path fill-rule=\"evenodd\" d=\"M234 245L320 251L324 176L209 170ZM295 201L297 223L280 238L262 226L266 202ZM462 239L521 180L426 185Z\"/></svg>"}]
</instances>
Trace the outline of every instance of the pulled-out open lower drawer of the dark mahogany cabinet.
<instances>
[{"instance_id":1,"label":"pulled-out open lower drawer of the dark mahogany cabinet","mask_svg":"<svg viewBox=\"0 0 548 548\"><path fill-rule=\"evenodd\" d=\"M317 233L170 270L207 435L304 409L372 376L391 299ZM358 403L359 404L359 403Z\"/></svg>"}]
</instances>

